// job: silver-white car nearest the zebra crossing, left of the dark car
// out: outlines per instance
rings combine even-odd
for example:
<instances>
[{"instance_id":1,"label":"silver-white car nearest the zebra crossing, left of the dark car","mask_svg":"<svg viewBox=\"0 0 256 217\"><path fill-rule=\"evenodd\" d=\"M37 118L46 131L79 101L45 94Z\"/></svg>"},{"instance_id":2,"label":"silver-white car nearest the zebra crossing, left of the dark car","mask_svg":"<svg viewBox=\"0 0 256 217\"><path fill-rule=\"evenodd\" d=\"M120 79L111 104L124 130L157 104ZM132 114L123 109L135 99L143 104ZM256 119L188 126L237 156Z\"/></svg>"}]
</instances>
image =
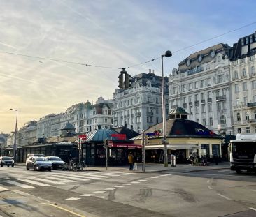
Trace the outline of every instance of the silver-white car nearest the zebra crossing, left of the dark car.
<instances>
[{"instance_id":1,"label":"silver-white car nearest the zebra crossing, left of the dark car","mask_svg":"<svg viewBox=\"0 0 256 217\"><path fill-rule=\"evenodd\" d=\"M52 170L52 162L50 162L45 157L34 157L31 156L27 159L26 169L34 169L34 170Z\"/></svg>"}]
</instances>

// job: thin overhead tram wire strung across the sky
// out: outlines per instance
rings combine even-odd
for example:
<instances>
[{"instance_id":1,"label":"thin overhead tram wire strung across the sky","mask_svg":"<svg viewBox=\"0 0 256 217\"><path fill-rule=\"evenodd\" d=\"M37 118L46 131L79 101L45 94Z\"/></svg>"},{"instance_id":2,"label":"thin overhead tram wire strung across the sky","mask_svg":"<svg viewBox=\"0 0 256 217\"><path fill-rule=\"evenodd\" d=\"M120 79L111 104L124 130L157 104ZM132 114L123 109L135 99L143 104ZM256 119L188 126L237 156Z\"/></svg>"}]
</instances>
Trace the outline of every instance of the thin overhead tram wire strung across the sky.
<instances>
[{"instance_id":1,"label":"thin overhead tram wire strung across the sky","mask_svg":"<svg viewBox=\"0 0 256 217\"><path fill-rule=\"evenodd\" d=\"M209 40L213 40L213 39L215 39L215 38L219 38L220 36L225 36L225 35L227 35L228 33L232 33L232 32L237 31L237 30L239 30L239 29L243 29L243 28L245 28L245 27L249 27L249 26L251 26L251 25L253 25L253 24L256 24L256 22L252 22L252 23L250 23L250 24L246 24L246 25L244 25L244 26L242 26L242 27L233 29L233 30L231 30L231 31L227 31L227 32L222 33L222 34L220 34L220 35L218 35L218 36L214 36L214 37L212 37L212 38L208 38L208 39L206 39L206 40L202 40L201 42L195 43L194 45L190 45L190 46L187 46L187 47L183 47L182 49L176 50L176 51L174 51L174 52L172 52L172 53L177 53L177 52L180 52L180 51L183 51L183 50L187 50L187 49L190 48L190 47L194 47L194 46L196 46L196 45L200 45L200 44L202 44L202 43L206 43L206 42L209 41ZM31 58L36 58L36 59L44 59L44 60L50 60L50 61L58 61L58 62L62 62L62 63L71 63L71 64L80 65L80 66L90 66L90 67L95 67L95 68L112 68L112 69L123 69L123 68L127 69L127 68L133 68L133 67L136 67L136 66L141 66L141 65L143 65L143 64L149 63L149 62L151 62L151 61L155 61L155 60L157 60L157 59L160 58L160 57L157 57L157 58L151 59L151 60L149 60L149 61L145 61L145 62L143 62L143 63L138 63L138 64L131 65L131 66L127 66L127 67L111 67L111 66L97 66L97 65L87 64L87 63L78 63L78 62L73 62L73 61L64 61L64 60L62 60L62 59L52 59L52 58L48 58L48 57L37 57L37 56L33 56L33 55L18 54L18 53L6 52L6 51L2 51L2 50L0 50L0 53L12 54L12 55L17 55L17 56L22 56L22 57L31 57Z\"/></svg>"}]
</instances>

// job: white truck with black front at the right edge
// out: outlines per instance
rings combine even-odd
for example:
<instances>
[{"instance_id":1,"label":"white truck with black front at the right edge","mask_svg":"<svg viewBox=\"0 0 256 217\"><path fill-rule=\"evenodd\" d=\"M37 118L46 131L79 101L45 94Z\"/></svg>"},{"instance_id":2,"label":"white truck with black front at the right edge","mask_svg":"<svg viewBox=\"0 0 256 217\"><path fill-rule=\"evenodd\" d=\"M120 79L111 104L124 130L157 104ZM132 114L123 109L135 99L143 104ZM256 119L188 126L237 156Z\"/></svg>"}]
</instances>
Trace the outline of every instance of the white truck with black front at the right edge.
<instances>
[{"instance_id":1,"label":"white truck with black front at the right edge","mask_svg":"<svg viewBox=\"0 0 256 217\"><path fill-rule=\"evenodd\" d=\"M229 143L230 169L256 172L256 134L237 134Z\"/></svg>"}]
</instances>

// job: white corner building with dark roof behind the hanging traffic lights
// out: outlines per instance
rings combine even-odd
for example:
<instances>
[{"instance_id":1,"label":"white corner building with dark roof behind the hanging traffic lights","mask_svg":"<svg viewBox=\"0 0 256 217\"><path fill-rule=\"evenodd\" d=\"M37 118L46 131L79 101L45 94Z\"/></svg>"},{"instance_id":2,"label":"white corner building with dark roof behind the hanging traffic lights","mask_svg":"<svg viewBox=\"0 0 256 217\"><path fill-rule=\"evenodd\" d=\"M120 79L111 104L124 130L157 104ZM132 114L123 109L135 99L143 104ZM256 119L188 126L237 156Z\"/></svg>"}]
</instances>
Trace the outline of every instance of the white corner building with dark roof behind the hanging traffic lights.
<instances>
[{"instance_id":1,"label":"white corner building with dark roof behind the hanging traffic lights","mask_svg":"<svg viewBox=\"0 0 256 217\"><path fill-rule=\"evenodd\" d=\"M113 93L113 126L125 126L141 133L162 122L161 77L154 73L141 73L133 77L128 89L115 89ZM164 78L167 84L167 79ZM168 100L167 85L166 102ZM166 117L168 117L166 103Z\"/></svg>"}]
</instances>

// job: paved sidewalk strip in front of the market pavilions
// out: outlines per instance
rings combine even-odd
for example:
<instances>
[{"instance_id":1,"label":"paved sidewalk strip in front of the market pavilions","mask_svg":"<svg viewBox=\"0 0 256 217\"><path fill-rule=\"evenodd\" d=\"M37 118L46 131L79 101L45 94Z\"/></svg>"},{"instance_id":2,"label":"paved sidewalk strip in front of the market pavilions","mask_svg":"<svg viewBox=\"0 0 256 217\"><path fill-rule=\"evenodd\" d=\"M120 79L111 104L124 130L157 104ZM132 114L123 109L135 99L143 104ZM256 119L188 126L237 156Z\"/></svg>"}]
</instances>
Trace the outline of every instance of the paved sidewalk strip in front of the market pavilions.
<instances>
[{"instance_id":1,"label":"paved sidewalk strip in front of the market pavilions","mask_svg":"<svg viewBox=\"0 0 256 217\"><path fill-rule=\"evenodd\" d=\"M25 163L15 163L16 166L25 166ZM218 165L212 163L209 166L193 166L193 165L186 165L186 164L177 164L176 167L171 167L169 164L168 167L164 167L163 164L157 163L146 163L145 164L145 172L197 172L203 170L220 170L220 169L230 169L229 162L220 162ZM106 167L104 166L88 166L88 171L101 171L105 172ZM108 171L111 172L142 172L142 163L138 163L137 170L129 171L129 166L119 166L119 167L108 167Z\"/></svg>"}]
</instances>

